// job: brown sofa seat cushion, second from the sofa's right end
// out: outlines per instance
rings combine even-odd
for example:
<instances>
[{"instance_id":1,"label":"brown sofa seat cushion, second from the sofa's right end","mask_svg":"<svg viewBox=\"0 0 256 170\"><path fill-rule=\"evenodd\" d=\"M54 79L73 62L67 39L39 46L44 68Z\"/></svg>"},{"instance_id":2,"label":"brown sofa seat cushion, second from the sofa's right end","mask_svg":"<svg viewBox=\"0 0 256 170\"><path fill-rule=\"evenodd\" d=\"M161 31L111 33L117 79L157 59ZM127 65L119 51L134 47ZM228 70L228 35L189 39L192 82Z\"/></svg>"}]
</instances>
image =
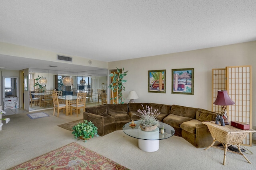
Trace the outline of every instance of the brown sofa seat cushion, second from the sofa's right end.
<instances>
[{"instance_id":1,"label":"brown sofa seat cushion, second from the sofa's right end","mask_svg":"<svg viewBox=\"0 0 256 170\"><path fill-rule=\"evenodd\" d=\"M163 119L163 122L171 126L180 127L181 123L185 121L190 121L190 120L192 120L192 118L190 117L170 114Z\"/></svg>"}]
</instances>

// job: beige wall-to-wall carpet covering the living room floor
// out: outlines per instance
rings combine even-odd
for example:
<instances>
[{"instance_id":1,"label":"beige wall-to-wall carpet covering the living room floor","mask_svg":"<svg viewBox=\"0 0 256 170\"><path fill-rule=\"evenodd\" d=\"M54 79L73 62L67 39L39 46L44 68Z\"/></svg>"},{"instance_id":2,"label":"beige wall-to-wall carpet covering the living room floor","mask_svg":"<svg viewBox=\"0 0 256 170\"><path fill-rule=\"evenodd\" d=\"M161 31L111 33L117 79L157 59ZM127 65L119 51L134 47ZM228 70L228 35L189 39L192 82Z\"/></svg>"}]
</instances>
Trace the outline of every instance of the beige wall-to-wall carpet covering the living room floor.
<instances>
[{"instance_id":1,"label":"beige wall-to-wall carpet covering the living room floor","mask_svg":"<svg viewBox=\"0 0 256 170\"><path fill-rule=\"evenodd\" d=\"M59 117L52 110L44 111L50 117L30 119L26 114L9 115L11 121L0 131L0 169L6 170L60 147L77 142L131 170L255 170L256 147L246 147L246 157L227 153L226 165L222 165L224 151L196 148L181 137L160 140L159 150L144 152L138 148L138 139L115 131L103 137L94 137L86 143L74 139L71 131L58 127L66 122L82 119L82 114Z\"/></svg>"}]
</instances>

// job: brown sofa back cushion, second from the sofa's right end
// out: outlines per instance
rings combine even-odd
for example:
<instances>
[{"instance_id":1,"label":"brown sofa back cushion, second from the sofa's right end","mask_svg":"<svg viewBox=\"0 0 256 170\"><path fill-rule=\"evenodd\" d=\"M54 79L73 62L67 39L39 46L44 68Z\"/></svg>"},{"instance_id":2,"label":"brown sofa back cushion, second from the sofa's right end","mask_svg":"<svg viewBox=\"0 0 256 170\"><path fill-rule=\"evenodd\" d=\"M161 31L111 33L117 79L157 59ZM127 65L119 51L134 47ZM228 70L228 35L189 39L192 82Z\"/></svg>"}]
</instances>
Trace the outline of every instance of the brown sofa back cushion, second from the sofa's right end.
<instances>
[{"instance_id":1,"label":"brown sofa back cushion, second from the sofa's right end","mask_svg":"<svg viewBox=\"0 0 256 170\"><path fill-rule=\"evenodd\" d=\"M197 110L198 109L194 108L194 107L172 105L170 114L196 119L196 111Z\"/></svg>"}]
</instances>

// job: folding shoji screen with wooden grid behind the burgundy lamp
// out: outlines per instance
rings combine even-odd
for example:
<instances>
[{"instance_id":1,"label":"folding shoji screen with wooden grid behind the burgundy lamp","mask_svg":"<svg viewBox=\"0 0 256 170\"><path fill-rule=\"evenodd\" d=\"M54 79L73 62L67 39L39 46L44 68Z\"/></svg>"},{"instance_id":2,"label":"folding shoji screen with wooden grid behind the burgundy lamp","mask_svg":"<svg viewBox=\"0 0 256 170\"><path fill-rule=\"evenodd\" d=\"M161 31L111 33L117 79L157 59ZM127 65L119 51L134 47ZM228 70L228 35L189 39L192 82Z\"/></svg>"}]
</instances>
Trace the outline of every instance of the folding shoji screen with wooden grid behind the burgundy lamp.
<instances>
[{"instance_id":1,"label":"folding shoji screen with wooden grid behind the burgundy lamp","mask_svg":"<svg viewBox=\"0 0 256 170\"><path fill-rule=\"evenodd\" d=\"M250 124L252 129L252 66L228 66L212 69L212 111L221 113L221 106L214 105L218 90L227 90L235 102L228 106L228 121ZM243 141L252 146L252 133Z\"/></svg>"}]
</instances>

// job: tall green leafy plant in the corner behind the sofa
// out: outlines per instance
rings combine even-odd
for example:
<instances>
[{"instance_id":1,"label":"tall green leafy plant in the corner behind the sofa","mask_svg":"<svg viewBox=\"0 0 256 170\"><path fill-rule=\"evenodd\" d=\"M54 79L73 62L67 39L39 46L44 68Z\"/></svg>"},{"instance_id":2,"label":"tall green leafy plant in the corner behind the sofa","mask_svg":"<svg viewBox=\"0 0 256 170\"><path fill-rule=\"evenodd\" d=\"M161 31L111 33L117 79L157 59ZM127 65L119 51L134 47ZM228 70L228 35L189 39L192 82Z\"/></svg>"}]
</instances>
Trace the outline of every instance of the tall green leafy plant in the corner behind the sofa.
<instances>
[{"instance_id":1,"label":"tall green leafy plant in the corner behind the sofa","mask_svg":"<svg viewBox=\"0 0 256 170\"><path fill-rule=\"evenodd\" d=\"M108 86L108 88L110 88L111 90L111 94L112 94L112 98L110 98L110 100L113 101L113 104L122 104L124 102L122 102L122 90L125 91L125 87L123 85L123 83L125 84L125 82L127 80L123 80L124 76L126 76L128 71L124 72L124 68L122 70L117 68L117 73L114 72L109 74L110 77L113 77L113 81L111 82L111 84ZM114 94L116 93L116 97L114 98Z\"/></svg>"}]
</instances>

